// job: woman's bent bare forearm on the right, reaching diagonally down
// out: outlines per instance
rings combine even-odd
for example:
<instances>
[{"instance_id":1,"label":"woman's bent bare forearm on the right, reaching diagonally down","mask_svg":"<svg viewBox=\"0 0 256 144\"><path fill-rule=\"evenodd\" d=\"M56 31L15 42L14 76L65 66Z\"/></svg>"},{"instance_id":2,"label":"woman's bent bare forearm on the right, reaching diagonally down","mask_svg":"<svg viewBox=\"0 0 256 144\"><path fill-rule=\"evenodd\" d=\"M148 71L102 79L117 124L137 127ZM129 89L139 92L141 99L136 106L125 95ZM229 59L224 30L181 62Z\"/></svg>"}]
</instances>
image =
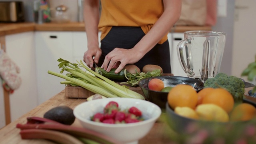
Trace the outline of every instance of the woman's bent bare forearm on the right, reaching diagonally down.
<instances>
[{"instance_id":1,"label":"woman's bent bare forearm on the right, reaching diagonally down","mask_svg":"<svg viewBox=\"0 0 256 144\"><path fill-rule=\"evenodd\" d=\"M181 0L163 0L164 12L151 30L134 46L141 54L149 52L178 21L181 14Z\"/></svg>"}]
</instances>

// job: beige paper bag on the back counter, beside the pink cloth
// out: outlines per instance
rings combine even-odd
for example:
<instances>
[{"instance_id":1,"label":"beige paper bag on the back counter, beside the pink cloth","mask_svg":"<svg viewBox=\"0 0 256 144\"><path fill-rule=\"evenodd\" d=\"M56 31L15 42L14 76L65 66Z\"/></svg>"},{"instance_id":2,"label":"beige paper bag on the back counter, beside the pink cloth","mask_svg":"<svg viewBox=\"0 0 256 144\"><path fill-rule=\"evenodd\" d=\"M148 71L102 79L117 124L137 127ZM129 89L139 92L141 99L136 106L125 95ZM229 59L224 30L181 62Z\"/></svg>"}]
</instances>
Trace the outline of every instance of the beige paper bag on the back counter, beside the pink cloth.
<instances>
[{"instance_id":1,"label":"beige paper bag on the back counter, beside the pink cloth","mask_svg":"<svg viewBox=\"0 0 256 144\"><path fill-rule=\"evenodd\" d=\"M206 0L182 0L181 15L175 25L204 26L206 14Z\"/></svg>"}]
</instances>

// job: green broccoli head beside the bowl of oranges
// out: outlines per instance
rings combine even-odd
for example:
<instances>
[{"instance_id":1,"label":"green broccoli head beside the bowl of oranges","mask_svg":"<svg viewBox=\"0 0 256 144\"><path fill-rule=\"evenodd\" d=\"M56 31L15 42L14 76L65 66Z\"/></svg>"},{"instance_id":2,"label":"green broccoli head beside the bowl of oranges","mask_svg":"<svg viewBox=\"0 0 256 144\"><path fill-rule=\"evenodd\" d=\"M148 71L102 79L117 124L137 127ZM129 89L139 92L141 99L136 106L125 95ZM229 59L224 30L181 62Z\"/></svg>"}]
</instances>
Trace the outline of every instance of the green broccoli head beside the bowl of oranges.
<instances>
[{"instance_id":1,"label":"green broccoli head beside the bowl of oranges","mask_svg":"<svg viewBox=\"0 0 256 144\"><path fill-rule=\"evenodd\" d=\"M244 82L236 76L218 73L214 78L208 78L204 83L204 87L225 88L232 94L235 102L242 102L244 98Z\"/></svg>"}]
</instances>

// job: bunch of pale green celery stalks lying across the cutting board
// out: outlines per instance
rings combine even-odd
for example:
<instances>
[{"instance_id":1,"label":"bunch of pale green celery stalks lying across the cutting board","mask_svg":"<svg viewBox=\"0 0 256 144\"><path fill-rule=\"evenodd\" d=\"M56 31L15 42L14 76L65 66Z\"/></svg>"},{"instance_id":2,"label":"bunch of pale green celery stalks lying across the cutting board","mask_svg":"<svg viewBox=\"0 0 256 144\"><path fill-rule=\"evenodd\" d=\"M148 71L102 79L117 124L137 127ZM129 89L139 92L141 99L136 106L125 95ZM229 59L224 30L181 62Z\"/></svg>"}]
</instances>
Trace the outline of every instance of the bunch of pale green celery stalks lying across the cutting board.
<instances>
[{"instance_id":1,"label":"bunch of pale green celery stalks lying across the cutting board","mask_svg":"<svg viewBox=\"0 0 256 144\"><path fill-rule=\"evenodd\" d=\"M81 86L82 88L86 88L95 94L100 94L106 97L124 97L124 98L138 98L144 100L145 98L124 86L121 86L112 80L94 72L87 66L85 66L80 60L78 64L72 64L67 60L63 60L62 58L58 59L59 68L62 68L60 73L64 71L69 72L68 76L63 74L59 74L57 72L48 71L48 74L52 74L54 76L58 76L60 78L66 79L65 82L61 82L62 84L72 84L76 86ZM85 68L86 71L83 71L79 67ZM88 72L87 72L88 71ZM74 77L73 77L74 76Z\"/></svg>"}]
</instances>

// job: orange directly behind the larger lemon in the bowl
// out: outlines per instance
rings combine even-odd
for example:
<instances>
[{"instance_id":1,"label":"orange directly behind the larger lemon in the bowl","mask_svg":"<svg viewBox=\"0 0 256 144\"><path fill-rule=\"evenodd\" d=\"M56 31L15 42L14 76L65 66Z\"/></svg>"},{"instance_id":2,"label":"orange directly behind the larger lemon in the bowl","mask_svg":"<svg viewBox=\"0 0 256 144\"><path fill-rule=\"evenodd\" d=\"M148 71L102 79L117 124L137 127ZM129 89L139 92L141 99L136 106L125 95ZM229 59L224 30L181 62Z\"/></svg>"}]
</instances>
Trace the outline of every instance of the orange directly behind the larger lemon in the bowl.
<instances>
[{"instance_id":1,"label":"orange directly behind the larger lemon in the bowl","mask_svg":"<svg viewBox=\"0 0 256 144\"><path fill-rule=\"evenodd\" d=\"M216 88L204 96L202 104L216 104L229 113L234 107L234 98L224 88Z\"/></svg>"}]
</instances>

